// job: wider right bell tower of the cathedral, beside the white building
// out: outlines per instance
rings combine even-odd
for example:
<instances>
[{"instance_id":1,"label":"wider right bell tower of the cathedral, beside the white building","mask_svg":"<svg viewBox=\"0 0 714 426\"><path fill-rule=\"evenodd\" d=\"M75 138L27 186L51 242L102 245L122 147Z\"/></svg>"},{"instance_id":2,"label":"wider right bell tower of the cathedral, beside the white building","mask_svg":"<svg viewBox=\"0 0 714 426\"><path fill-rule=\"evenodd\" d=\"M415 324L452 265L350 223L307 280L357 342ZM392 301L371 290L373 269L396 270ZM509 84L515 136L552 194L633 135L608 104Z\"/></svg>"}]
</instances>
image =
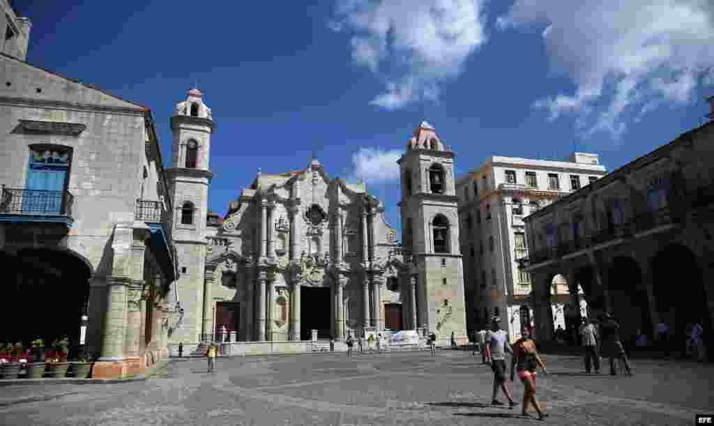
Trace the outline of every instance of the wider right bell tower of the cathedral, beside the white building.
<instances>
[{"instance_id":1,"label":"wider right bell tower of the cathedral, beside the white building","mask_svg":"<svg viewBox=\"0 0 714 426\"><path fill-rule=\"evenodd\" d=\"M405 280L414 307L409 328L451 332L466 340L463 263L458 245L458 197L454 153L436 129L422 121L399 159L403 249L414 268ZM416 300L411 300L415 298ZM416 317L416 318L414 318Z\"/></svg>"}]
</instances>

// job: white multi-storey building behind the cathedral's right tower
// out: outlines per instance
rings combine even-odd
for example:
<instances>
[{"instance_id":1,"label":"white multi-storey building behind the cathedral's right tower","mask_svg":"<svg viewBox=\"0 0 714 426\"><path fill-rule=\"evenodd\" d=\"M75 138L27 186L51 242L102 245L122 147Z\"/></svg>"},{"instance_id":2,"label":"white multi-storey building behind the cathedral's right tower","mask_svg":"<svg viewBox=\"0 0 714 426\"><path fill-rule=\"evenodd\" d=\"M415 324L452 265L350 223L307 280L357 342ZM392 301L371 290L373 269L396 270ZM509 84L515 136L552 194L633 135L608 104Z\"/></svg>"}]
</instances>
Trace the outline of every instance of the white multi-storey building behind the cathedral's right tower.
<instances>
[{"instance_id":1,"label":"white multi-storey building behind the cathedral's right tower","mask_svg":"<svg viewBox=\"0 0 714 426\"><path fill-rule=\"evenodd\" d=\"M528 255L523 217L605 174L591 153L573 153L568 161L492 156L457 180L469 335L493 315L501 317L512 342L533 324L531 279L518 268L518 259ZM564 277L553 278L551 295L553 324L566 328Z\"/></svg>"}]
</instances>

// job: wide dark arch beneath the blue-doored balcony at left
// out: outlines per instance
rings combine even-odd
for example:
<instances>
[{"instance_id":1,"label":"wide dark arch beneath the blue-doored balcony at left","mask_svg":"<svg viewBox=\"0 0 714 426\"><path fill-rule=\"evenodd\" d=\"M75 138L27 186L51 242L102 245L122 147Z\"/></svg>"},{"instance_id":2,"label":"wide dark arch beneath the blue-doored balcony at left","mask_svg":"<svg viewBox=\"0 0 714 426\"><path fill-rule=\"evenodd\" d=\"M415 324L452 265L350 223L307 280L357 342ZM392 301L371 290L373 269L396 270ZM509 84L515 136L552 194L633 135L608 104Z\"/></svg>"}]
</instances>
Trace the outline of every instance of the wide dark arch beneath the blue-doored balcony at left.
<instances>
[{"instance_id":1,"label":"wide dark arch beneath the blue-doored balcony at left","mask_svg":"<svg viewBox=\"0 0 714 426\"><path fill-rule=\"evenodd\" d=\"M9 301L0 310L0 341L29 347L42 338L49 347L56 338L70 340L70 355L80 343L81 317L87 313L91 265L64 248L31 248L15 255L0 252Z\"/></svg>"}]
</instances>

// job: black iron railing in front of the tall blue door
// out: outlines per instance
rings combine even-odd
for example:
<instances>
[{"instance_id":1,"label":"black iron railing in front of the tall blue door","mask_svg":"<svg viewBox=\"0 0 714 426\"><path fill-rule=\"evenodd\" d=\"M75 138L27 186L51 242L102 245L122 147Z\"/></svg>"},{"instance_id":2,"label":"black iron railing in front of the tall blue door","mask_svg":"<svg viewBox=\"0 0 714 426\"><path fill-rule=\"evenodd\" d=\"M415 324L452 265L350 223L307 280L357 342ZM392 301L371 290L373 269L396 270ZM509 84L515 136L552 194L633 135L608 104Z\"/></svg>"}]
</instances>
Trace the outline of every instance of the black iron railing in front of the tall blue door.
<instances>
[{"instance_id":1,"label":"black iron railing in front of the tall blue door","mask_svg":"<svg viewBox=\"0 0 714 426\"><path fill-rule=\"evenodd\" d=\"M6 188L2 186L0 214L72 217L74 196L69 191Z\"/></svg>"}]
</instances>

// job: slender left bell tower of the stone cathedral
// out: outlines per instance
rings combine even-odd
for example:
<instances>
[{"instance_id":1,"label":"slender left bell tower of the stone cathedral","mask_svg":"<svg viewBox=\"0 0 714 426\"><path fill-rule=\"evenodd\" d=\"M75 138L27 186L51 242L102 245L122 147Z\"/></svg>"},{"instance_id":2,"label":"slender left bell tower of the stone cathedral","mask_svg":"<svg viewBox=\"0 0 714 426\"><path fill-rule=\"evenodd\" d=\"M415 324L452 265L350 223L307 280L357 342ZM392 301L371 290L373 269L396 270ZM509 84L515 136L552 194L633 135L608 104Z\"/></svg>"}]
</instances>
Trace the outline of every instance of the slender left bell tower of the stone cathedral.
<instances>
[{"instance_id":1,"label":"slender left bell tower of the stone cathedral","mask_svg":"<svg viewBox=\"0 0 714 426\"><path fill-rule=\"evenodd\" d=\"M208 184L213 177L208 166L215 129L211 109L203 103L203 93L191 89L171 116L173 164L166 169L174 206L170 223L180 274L178 301L184 309L183 327L171 336L171 342L181 341L184 345L196 342L200 333L213 333L213 313L206 323L202 295L208 245Z\"/></svg>"}]
</instances>

